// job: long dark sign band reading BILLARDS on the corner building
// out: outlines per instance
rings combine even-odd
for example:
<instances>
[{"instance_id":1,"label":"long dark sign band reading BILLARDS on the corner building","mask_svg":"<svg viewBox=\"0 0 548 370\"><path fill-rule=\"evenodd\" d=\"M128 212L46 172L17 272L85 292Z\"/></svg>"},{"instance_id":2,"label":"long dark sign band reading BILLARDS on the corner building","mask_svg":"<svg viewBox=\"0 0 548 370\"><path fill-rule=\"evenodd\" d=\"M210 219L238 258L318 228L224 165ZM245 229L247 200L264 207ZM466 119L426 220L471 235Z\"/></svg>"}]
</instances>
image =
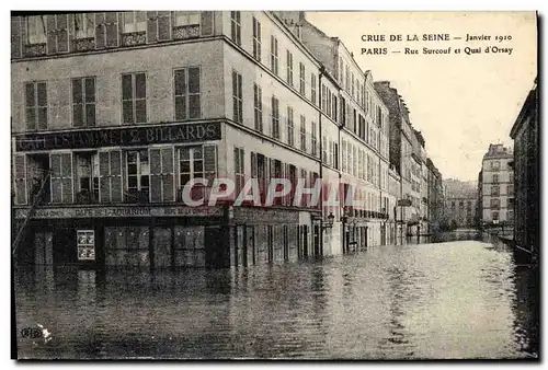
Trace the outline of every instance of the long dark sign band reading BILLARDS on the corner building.
<instances>
[{"instance_id":1,"label":"long dark sign band reading BILLARDS on the corner building","mask_svg":"<svg viewBox=\"0 0 548 370\"><path fill-rule=\"evenodd\" d=\"M122 127L103 130L27 134L15 137L18 151L127 147L219 140L220 123L181 124L158 127Z\"/></svg>"}]
</instances>

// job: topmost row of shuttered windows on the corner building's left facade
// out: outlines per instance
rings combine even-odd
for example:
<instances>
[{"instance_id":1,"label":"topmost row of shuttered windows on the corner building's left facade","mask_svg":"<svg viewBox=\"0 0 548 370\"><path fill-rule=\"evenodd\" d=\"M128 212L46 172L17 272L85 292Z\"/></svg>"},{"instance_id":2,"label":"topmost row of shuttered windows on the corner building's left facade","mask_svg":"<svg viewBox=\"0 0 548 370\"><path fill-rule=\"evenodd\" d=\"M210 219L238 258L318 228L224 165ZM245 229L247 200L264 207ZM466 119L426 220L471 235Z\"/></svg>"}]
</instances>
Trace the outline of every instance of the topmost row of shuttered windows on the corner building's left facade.
<instances>
[{"instance_id":1,"label":"topmost row of shuttered windows on the corner building's left facade","mask_svg":"<svg viewBox=\"0 0 548 370\"><path fill-rule=\"evenodd\" d=\"M21 26L22 54L33 57L210 36L213 12L126 11L32 15L24 18ZM12 53L13 57L21 56L19 43L12 43Z\"/></svg>"}]
</instances>

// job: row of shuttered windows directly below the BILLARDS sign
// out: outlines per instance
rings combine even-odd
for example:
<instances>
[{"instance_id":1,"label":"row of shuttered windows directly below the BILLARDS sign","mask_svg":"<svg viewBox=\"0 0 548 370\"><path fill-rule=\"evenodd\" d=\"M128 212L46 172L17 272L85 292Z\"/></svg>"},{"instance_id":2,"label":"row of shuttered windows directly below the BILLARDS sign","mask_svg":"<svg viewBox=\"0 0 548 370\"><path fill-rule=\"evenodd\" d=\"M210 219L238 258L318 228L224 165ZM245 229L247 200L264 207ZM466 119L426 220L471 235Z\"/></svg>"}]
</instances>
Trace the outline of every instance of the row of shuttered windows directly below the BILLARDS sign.
<instances>
[{"instance_id":1,"label":"row of shuttered windows directly below the BILLARDS sign","mask_svg":"<svg viewBox=\"0 0 548 370\"><path fill-rule=\"evenodd\" d=\"M46 186L47 203L173 201L181 199L182 187L189 181L215 178L217 147L19 154L15 157L18 204L26 204L27 195L32 200L47 169L52 173Z\"/></svg>"}]
</instances>

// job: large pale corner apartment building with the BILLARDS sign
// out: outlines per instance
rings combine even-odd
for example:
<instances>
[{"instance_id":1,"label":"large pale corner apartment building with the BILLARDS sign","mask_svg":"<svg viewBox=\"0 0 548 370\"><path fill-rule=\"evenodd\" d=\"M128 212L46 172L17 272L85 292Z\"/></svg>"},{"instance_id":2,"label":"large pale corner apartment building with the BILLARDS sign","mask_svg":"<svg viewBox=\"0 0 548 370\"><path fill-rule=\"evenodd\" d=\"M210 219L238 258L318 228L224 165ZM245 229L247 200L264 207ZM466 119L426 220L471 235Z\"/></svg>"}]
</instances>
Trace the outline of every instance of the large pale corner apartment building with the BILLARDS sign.
<instances>
[{"instance_id":1,"label":"large pale corner apartment building with the BILLARDS sign","mask_svg":"<svg viewBox=\"0 0 548 370\"><path fill-rule=\"evenodd\" d=\"M263 200L270 178L312 184L322 171L321 66L273 13L25 14L11 33L13 207L30 217L21 261L235 266L322 254L321 209L290 197L182 203L194 178L209 181L193 199L207 201L214 178L238 190L253 177Z\"/></svg>"}]
</instances>

